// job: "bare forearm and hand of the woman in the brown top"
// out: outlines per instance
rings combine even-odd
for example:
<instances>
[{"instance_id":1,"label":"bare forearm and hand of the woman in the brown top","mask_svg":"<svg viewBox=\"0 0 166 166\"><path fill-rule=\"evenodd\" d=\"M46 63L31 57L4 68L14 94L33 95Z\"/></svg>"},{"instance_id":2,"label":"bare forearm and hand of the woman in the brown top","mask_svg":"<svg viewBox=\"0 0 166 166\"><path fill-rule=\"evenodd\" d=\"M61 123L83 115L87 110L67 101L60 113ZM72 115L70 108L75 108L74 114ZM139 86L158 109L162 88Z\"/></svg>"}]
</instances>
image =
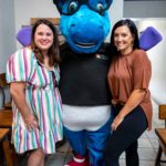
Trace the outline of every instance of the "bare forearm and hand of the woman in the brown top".
<instances>
[{"instance_id":1,"label":"bare forearm and hand of the woman in the brown top","mask_svg":"<svg viewBox=\"0 0 166 166\"><path fill-rule=\"evenodd\" d=\"M134 90L132 92L126 104L123 106L123 108L121 110L121 112L112 123L113 131L115 131L118 127L118 125L122 123L122 121L128 113L131 113L136 106L139 105L145 94L146 94L146 90Z\"/></svg>"}]
</instances>

